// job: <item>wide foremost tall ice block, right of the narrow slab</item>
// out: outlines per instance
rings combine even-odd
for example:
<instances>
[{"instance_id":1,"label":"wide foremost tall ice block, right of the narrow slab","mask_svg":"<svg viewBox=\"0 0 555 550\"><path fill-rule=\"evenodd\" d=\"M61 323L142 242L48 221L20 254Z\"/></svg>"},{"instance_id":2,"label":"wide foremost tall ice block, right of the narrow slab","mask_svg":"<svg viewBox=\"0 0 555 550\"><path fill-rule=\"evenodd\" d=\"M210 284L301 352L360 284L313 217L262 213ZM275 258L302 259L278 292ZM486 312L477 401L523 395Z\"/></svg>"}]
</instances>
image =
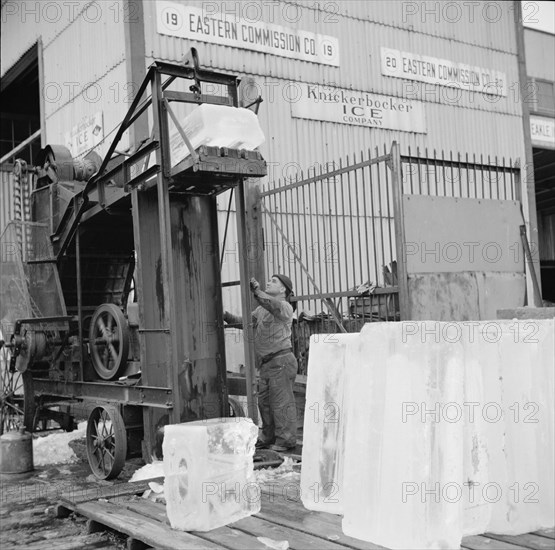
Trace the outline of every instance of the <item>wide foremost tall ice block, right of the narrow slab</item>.
<instances>
[{"instance_id":1,"label":"wide foremost tall ice block, right of the narrow slab","mask_svg":"<svg viewBox=\"0 0 555 550\"><path fill-rule=\"evenodd\" d=\"M343 531L392 549L458 548L463 347L442 323L369 323L349 345ZM451 414L449 412L448 414Z\"/></svg>"}]
</instances>

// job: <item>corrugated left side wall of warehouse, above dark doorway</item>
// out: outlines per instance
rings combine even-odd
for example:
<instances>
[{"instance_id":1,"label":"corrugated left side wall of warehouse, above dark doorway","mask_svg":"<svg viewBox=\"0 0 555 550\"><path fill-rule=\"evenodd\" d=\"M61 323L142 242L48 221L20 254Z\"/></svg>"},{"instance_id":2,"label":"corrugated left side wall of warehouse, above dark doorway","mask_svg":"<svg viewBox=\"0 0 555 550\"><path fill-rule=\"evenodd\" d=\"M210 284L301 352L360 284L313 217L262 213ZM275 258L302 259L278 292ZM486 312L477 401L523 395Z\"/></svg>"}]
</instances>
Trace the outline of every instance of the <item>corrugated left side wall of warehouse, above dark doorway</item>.
<instances>
[{"instance_id":1,"label":"corrugated left side wall of warehouse, above dark doorway","mask_svg":"<svg viewBox=\"0 0 555 550\"><path fill-rule=\"evenodd\" d=\"M123 118L133 88L126 83L122 0L113 2L8 2L2 9L2 73L38 38L43 43L40 90L46 142L64 144L65 133L101 111L104 137ZM127 141L124 139L122 148ZM106 143L97 151L102 154Z\"/></svg>"}]
</instances>

